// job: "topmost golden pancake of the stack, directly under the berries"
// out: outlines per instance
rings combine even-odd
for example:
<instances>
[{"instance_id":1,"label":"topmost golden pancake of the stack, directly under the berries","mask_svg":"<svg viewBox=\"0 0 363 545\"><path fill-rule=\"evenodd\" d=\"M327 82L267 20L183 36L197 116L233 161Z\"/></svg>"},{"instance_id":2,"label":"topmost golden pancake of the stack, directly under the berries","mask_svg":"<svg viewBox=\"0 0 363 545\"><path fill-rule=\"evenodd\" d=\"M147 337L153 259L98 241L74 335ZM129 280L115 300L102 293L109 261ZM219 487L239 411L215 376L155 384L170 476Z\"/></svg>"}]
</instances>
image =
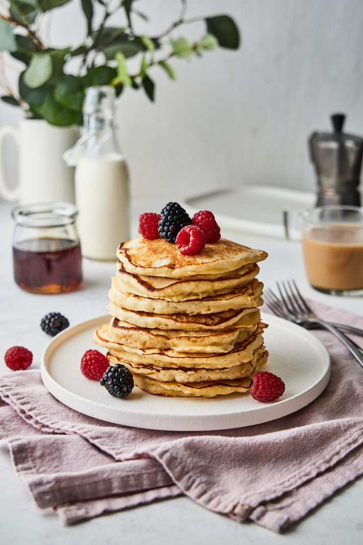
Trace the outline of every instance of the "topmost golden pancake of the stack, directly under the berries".
<instances>
[{"instance_id":1,"label":"topmost golden pancake of the stack, directly under the berries","mask_svg":"<svg viewBox=\"0 0 363 545\"><path fill-rule=\"evenodd\" d=\"M262 250L253 250L231 240L206 244L200 252L183 256L176 244L164 239L138 237L119 245L117 257L128 272L145 276L186 278L195 275L223 275L249 263L267 258Z\"/></svg>"}]
</instances>

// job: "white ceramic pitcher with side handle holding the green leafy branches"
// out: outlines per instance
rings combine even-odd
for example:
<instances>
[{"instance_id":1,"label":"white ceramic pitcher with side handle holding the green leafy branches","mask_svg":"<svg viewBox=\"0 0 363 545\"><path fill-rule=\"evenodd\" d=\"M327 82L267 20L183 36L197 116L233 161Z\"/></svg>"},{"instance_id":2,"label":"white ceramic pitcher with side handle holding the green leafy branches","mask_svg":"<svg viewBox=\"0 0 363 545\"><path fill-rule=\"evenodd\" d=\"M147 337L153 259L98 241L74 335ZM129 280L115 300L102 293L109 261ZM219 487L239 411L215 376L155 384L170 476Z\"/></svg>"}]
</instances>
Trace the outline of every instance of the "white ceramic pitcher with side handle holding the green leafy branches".
<instances>
[{"instance_id":1,"label":"white ceramic pitcher with side handle holding the green leafy branches","mask_svg":"<svg viewBox=\"0 0 363 545\"><path fill-rule=\"evenodd\" d=\"M19 144L19 181L11 189L5 172L5 138ZM62 154L80 137L76 126L56 127L43 119L22 119L20 128L0 129L0 195L21 204L49 201L75 202L74 168Z\"/></svg>"}]
</instances>

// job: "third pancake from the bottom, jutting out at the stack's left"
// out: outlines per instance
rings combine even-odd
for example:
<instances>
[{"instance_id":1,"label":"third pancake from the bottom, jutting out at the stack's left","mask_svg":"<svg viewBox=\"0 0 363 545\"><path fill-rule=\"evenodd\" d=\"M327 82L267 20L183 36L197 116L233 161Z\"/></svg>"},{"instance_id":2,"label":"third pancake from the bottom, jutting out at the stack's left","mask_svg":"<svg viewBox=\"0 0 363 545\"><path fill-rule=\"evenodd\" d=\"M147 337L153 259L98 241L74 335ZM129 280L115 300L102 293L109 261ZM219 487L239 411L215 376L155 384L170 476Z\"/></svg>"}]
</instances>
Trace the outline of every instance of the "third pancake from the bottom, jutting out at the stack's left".
<instances>
[{"instance_id":1,"label":"third pancake from the bottom, jutting out at the stack's left","mask_svg":"<svg viewBox=\"0 0 363 545\"><path fill-rule=\"evenodd\" d=\"M258 327L248 339L235 344L234 348L227 353L176 352L176 350L160 350L158 348L141 349L111 341L108 335L109 328L109 324L101 325L94 332L93 342L107 348L112 356L116 356L122 361L135 364L145 364L147 362L155 367L187 367L194 369L234 367L250 361L253 352L263 343L263 330L262 327Z\"/></svg>"}]
</instances>

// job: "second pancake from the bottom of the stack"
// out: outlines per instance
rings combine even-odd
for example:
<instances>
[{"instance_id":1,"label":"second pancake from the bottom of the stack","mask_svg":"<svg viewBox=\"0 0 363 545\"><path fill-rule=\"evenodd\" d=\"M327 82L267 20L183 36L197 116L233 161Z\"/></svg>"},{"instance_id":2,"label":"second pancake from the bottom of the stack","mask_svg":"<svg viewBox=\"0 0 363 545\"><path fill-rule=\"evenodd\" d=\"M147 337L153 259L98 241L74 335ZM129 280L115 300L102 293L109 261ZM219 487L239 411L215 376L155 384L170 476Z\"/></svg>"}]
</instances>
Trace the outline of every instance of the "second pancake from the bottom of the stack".
<instances>
[{"instance_id":1,"label":"second pancake from the bottom of the stack","mask_svg":"<svg viewBox=\"0 0 363 545\"><path fill-rule=\"evenodd\" d=\"M235 380L248 377L251 373L256 371L258 367L264 365L267 361L267 355L268 353L262 345L255 350L250 361L226 369L187 369L183 367L170 369L168 367L155 367L150 364L131 364L128 361L123 361L116 358L116 356L112 356L110 352L107 353L106 357L110 362L110 365L115 365L117 363L125 365L134 377L135 375L141 375L143 377L158 380L159 382L175 381L185 384L205 380Z\"/></svg>"}]
</instances>

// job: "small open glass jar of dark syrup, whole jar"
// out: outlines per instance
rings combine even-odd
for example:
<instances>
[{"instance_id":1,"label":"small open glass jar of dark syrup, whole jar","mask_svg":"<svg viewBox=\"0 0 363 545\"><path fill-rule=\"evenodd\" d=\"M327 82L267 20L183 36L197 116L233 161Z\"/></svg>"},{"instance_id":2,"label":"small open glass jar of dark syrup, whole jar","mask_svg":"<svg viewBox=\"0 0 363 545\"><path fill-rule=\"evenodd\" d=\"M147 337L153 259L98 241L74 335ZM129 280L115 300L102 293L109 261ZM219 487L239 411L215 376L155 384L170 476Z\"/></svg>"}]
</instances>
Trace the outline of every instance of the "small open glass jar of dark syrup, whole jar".
<instances>
[{"instance_id":1,"label":"small open glass jar of dark syrup, whole jar","mask_svg":"<svg viewBox=\"0 0 363 545\"><path fill-rule=\"evenodd\" d=\"M14 278L32 293L65 293L80 287L82 258L74 204L19 206L13 242Z\"/></svg>"}]
</instances>

